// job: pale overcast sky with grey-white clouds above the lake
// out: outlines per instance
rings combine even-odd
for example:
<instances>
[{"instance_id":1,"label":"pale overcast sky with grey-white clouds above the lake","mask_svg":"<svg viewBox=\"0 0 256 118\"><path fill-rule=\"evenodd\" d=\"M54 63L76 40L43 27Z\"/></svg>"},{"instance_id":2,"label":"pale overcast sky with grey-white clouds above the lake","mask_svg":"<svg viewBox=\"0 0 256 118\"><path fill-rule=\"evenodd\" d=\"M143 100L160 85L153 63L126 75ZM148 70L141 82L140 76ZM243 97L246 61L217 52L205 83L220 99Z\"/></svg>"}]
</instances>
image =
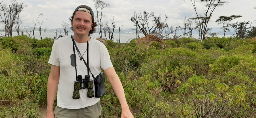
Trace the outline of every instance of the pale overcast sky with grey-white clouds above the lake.
<instances>
[{"instance_id":1,"label":"pale overcast sky with grey-white clouds above the lake","mask_svg":"<svg viewBox=\"0 0 256 118\"><path fill-rule=\"evenodd\" d=\"M4 0L4 3L9 3L11 0ZM168 17L167 23L169 26L182 24L185 17L196 17L196 12L193 9L192 3L183 0L103 0L110 4L110 7L103 9L103 22L110 22L109 19L116 21L116 28L122 26L124 28L134 28L132 22L129 22L134 11L147 11L155 12L155 15L162 15ZM220 8L217 8L213 12L211 23L209 27L221 27L215 23L219 16L225 15L241 15L243 17L233 20L235 21L250 21L252 25L256 25L256 0L226 0L228 3ZM44 21L49 29L61 28L62 21L69 23L69 17L72 15L75 8L79 5L90 6L96 14L96 8L94 7L93 0L17 0L17 2L23 2L25 7L20 13L20 19L22 20L22 26L33 26L33 20L41 14L45 13L39 18L40 21ZM203 15L204 3L196 3L196 7L199 14ZM96 16L95 16L96 17ZM38 26L36 26L38 27ZM42 26L43 28L44 26Z\"/></svg>"}]
</instances>

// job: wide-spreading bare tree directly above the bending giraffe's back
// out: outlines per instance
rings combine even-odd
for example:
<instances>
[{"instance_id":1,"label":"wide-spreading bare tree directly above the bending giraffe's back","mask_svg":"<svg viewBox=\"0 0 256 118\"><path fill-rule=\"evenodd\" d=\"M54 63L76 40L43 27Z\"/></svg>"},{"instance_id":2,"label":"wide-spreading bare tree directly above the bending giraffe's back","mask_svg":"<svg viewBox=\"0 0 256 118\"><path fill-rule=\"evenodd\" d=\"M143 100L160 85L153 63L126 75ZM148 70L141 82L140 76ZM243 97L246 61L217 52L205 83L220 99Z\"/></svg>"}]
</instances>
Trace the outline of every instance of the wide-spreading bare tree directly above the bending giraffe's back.
<instances>
[{"instance_id":1,"label":"wide-spreading bare tree directly above the bending giraffe's back","mask_svg":"<svg viewBox=\"0 0 256 118\"><path fill-rule=\"evenodd\" d=\"M134 26L139 29L139 32L143 33L145 36L155 33L155 31L159 29L159 26L161 25L161 15L159 14L159 16L156 17L154 12L144 11L142 13L141 11L138 11L138 17L134 12L134 15L132 15L129 20L132 21Z\"/></svg>"}]
</instances>

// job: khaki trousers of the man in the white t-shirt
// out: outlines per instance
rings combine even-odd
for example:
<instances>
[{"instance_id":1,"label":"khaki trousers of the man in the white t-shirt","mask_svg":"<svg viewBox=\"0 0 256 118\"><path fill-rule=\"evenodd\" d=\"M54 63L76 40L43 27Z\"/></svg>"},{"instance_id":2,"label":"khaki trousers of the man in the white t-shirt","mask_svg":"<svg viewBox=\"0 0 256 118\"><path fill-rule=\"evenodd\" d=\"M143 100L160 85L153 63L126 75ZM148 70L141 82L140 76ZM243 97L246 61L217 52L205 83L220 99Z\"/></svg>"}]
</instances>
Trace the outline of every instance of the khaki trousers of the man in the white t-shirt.
<instances>
[{"instance_id":1,"label":"khaki trousers of the man in the white t-shirt","mask_svg":"<svg viewBox=\"0 0 256 118\"><path fill-rule=\"evenodd\" d=\"M100 101L92 106L81 109L65 109L56 106L54 110L55 118L100 118Z\"/></svg>"}]
</instances>

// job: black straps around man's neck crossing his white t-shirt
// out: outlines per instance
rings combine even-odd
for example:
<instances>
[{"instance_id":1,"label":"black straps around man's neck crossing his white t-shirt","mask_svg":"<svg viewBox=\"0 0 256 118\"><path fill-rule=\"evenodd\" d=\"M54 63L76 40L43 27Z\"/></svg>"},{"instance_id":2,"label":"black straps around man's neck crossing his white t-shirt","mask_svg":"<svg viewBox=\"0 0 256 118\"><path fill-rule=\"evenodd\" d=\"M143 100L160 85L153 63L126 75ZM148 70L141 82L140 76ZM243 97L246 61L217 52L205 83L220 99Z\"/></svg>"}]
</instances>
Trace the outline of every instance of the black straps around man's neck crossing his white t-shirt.
<instances>
[{"instance_id":1,"label":"black straps around man's neck crossing his white t-shirt","mask_svg":"<svg viewBox=\"0 0 256 118\"><path fill-rule=\"evenodd\" d=\"M75 42L75 40L74 40L74 38L73 38L73 35L71 35L71 39L72 39L72 41L73 41L73 51L74 51L74 54L75 54L75 47L76 47L76 50L77 50L78 53L81 55L81 53L80 53L78 47L76 46L76 42ZM87 74L89 75L89 71L90 71L91 74L92 74L92 71L91 71L91 69L89 68L89 39L88 39L88 41L87 41L87 62L88 62L88 64L85 62L85 60L84 60L83 57L82 57L82 59L83 59L83 61L84 61L85 66L87 67L87 72L88 72ZM76 60L75 60L75 61L76 61ZM76 66L75 66L75 68L76 68ZM95 80L95 77L94 77L93 74L92 74L92 77L93 77L93 79ZM76 80L77 80L77 69L76 69Z\"/></svg>"}]
</instances>

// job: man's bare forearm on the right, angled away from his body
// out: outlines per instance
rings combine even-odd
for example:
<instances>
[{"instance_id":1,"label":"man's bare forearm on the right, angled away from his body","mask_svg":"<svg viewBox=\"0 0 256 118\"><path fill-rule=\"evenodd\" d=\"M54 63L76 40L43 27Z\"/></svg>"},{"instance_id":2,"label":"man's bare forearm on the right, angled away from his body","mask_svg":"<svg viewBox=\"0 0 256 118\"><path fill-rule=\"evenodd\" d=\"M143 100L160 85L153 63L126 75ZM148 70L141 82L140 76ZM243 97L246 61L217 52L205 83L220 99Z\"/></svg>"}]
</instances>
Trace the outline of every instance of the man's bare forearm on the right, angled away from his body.
<instances>
[{"instance_id":1,"label":"man's bare forearm on the right, angled away from his body","mask_svg":"<svg viewBox=\"0 0 256 118\"><path fill-rule=\"evenodd\" d=\"M118 77L118 75L114 76L113 78L108 78L109 82L111 83L113 90L116 93L117 98L120 101L122 110L129 109L129 106L126 102L125 94L124 94L124 88L123 85Z\"/></svg>"}]
</instances>

